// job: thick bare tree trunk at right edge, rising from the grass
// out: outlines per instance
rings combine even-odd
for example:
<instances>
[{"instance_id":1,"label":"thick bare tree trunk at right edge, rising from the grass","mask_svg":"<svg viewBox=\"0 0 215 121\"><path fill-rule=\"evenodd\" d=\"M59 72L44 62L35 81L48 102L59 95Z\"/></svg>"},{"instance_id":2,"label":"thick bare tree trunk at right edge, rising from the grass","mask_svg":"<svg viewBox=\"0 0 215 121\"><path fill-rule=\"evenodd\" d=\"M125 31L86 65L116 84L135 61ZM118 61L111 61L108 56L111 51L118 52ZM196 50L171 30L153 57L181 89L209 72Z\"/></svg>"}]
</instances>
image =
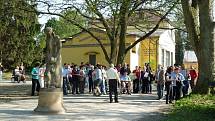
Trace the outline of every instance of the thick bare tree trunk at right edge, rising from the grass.
<instances>
[{"instance_id":1,"label":"thick bare tree trunk at right edge, rising from the grass","mask_svg":"<svg viewBox=\"0 0 215 121\"><path fill-rule=\"evenodd\" d=\"M189 40L198 59L199 78L195 92L206 94L215 82L215 22L213 0L181 0Z\"/></svg>"}]
</instances>

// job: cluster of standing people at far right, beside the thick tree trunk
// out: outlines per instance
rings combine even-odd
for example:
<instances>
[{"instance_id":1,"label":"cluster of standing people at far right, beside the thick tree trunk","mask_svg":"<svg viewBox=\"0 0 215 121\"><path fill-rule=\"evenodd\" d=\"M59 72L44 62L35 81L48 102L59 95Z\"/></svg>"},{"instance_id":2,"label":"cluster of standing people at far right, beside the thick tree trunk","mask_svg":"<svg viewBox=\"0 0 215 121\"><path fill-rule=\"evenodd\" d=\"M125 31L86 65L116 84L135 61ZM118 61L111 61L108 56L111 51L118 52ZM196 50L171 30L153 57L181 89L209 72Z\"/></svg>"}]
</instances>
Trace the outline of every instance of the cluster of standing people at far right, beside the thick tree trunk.
<instances>
[{"instance_id":1,"label":"cluster of standing people at far right, beside the thick tree trunk","mask_svg":"<svg viewBox=\"0 0 215 121\"><path fill-rule=\"evenodd\" d=\"M184 65L174 65L165 71L162 66L159 66L156 73L158 99L163 98L164 90L166 90L166 104L187 96L189 90L192 91L195 88L197 76L193 67L188 70Z\"/></svg>"}]
</instances>

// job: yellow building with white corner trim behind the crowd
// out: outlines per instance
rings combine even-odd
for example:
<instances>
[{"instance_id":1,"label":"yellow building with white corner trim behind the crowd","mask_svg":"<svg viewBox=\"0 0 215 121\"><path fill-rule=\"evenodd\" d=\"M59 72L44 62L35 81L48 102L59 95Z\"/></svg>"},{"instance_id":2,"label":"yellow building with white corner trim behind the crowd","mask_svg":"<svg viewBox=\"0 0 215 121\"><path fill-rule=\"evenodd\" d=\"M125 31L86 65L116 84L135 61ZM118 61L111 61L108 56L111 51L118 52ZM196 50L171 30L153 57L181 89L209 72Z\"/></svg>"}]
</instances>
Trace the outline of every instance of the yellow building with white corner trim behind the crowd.
<instances>
[{"instance_id":1,"label":"yellow building with white corner trim behind the crowd","mask_svg":"<svg viewBox=\"0 0 215 121\"><path fill-rule=\"evenodd\" d=\"M161 37L163 36L162 34L165 34L166 31L170 30L165 31L158 30L151 37L143 40L134 48L132 48L130 52L127 53L125 57L125 62L130 64L130 68L132 70L135 68L135 66L143 67L145 63L149 62L152 66L152 69L155 70L157 64L162 64L162 62L164 62L162 61L162 59L164 59L164 53L161 52L163 51L163 49L162 44L160 42L162 41ZM91 32L93 32L97 37L99 37L102 40L104 46L107 49L107 52L109 53L110 44L107 41L107 35L105 31L91 29ZM126 45L127 46L131 45L131 43L137 40L140 36L143 36L142 33L130 31L126 35ZM167 34L166 37L169 38L170 36ZM165 38L165 40L168 39ZM166 48L165 50L168 50L168 48ZM173 52L171 51L171 53ZM170 59L171 58L169 58L168 62L173 61ZM108 62L105 60L103 51L99 43L94 38L92 38L87 32L84 31L72 36L71 38L68 38L66 42L63 43L62 61L63 63L80 64L81 62L84 63L89 62L91 64L100 63L103 65L108 65Z\"/></svg>"}]
</instances>

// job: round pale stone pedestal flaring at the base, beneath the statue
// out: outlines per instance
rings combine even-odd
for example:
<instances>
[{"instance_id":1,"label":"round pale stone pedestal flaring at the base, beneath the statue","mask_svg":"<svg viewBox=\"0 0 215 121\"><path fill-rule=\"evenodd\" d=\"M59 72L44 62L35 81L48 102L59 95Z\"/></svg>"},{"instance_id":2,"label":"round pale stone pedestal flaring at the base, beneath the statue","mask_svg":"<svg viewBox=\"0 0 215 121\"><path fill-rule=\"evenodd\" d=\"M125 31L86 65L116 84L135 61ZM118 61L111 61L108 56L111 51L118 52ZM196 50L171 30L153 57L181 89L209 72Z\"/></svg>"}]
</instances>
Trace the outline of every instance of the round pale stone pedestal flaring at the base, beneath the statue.
<instances>
[{"instance_id":1,"label":"round pale stone pedestal flaring at the base, beneath the statue","mask_svg":"<svg viewBox=\"0 0 215 121\"><path fill-rule=\"evenodd\" d=\"M35 112L41 114L63 114L63 92L61 88L44 88L39 92L38 106Z\"/></svg>"}]
</instances>

